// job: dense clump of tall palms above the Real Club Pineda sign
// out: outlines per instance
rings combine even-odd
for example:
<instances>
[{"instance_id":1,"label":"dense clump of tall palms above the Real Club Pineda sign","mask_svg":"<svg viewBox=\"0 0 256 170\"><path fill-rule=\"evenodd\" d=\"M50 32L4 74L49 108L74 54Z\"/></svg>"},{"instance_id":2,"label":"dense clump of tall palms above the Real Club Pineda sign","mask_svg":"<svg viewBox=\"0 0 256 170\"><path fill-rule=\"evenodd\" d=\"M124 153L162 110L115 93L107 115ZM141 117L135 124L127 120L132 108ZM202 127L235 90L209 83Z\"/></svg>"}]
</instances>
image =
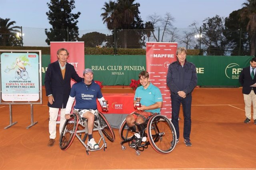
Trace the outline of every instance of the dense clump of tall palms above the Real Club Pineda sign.
<instances>
[{"instance_id":1,"label":"dense clump of tall palms above the Real Club Pineda sign","mask_svg":"<svg viewBox=\"0 0 256 170\"><path fill-rule=\"evenodd\" d=\"M139 14L139 3L135 0L118 0L105 2L101 14L103 23L112 30L108 35L106 47L142 48L145 46L146 34ZM116 44L114 44L114 39Z\"/></svg>"}]
</instances>

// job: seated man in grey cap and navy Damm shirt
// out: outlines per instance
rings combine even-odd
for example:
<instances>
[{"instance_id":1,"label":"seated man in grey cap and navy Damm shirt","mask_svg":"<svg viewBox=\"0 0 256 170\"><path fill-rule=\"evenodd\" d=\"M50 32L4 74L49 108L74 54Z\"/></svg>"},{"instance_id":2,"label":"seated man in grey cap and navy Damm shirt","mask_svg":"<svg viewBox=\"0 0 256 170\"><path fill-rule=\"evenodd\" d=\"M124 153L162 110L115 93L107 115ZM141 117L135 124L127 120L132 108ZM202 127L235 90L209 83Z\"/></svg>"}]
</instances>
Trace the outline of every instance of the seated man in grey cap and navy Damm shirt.
<instances>
[{"instance_id":1,"label":"seated man in grey cap and navy Damm shirt","mask_svg":"<svg viewBox=\"0 0 256 170\"><path fill-rule=\"evenodd\" d=\"M78 111L81 117L87 119L88 125L88 142L87 145L90 149L99 149L98 143L95 142L92 137L94 127L94 117L97 116L97 100L100 105L103 105L105 100L100 86L93 80L93 71L90 68L86 68L83 72L84 81L75 83L70 92L68 98L68 104L66 108L65 118L70 119L70 112L74 101L76 105L74 109Z\"/></svg>"}]
</instances>

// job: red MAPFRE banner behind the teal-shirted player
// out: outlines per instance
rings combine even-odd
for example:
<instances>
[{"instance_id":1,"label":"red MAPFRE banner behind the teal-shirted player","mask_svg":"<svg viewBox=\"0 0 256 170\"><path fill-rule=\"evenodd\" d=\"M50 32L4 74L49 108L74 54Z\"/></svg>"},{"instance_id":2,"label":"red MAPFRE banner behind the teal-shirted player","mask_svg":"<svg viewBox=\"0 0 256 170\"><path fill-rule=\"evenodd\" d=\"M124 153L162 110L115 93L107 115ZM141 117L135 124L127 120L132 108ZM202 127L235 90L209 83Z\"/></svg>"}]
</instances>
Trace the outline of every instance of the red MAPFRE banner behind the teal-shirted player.
<instances>
[{"instance_id":1,"label":"red MAPFRE banner behind the teal-shirted player","mask_svg":"<svg viewBox=\"0 0 256 170\"><path fill-rule=\"evenodd\" d=\"M162 93L163 106L161 114L172 117L170 90L166 84L166 75L170 63L176 61L178 43L147 42L146 68L150 82L157 86Z\"/></svg>"}]
</instances>

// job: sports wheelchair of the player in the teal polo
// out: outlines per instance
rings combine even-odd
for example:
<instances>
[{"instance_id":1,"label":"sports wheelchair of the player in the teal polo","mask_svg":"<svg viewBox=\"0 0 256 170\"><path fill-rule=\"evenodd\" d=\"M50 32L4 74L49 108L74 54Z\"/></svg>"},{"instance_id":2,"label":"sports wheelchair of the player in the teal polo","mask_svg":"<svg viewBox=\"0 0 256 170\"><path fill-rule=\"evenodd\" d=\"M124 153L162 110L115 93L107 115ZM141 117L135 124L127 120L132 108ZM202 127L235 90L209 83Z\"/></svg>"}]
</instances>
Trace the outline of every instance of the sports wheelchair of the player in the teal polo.
<instances>
[{"instance_id":1,"label":"sports wheelchair of the player in the teal polo","mask_svg":"<svg viewBox=\"0 0 256 170\"><path fill-rule=\"evenodd\" d=\"M135 133L140 133L141 137L139 143L134 147L136 155L140 155L140 151L148 148L148 145L151 145L152 148L160 154L167 154L175 148L177 139L176 131L172 122L166 116L154 114L150 115L146 121L140 125L136 124L136 122L134 123L140 131ZM144 136L147 137L147 141L142 143L142 137ZM119 137L122 140L122 150L126 149L124 143L128 143L130 146L130 142L134 139L134 133L130 127L128 127L126 119L124 119L119 129Z\"/></svg>"}]
</instances>

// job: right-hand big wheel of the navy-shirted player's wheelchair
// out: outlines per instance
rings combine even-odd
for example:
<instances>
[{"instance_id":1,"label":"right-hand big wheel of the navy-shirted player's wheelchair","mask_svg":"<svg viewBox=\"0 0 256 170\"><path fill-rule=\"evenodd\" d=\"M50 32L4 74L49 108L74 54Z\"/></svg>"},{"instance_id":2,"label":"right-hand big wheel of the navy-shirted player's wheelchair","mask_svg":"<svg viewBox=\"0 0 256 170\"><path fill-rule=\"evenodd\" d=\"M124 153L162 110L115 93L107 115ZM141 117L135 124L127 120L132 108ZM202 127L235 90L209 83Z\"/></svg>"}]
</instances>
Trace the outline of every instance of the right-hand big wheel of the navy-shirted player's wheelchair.
<instances>
[{"instance_id":1,"label":"right-hand big wheel of the navy-shirted player's wheelchair","mask_svg":"<svg viewBox=\"0 0 256 170\"><path fill-rule=\"evenodd\" d=\"M115 134L114 134L112 127L108 123L108 120L106 119L106 117L102 113L99 112L98 119L100 122L100 127L102 128L102 133L106 136L106 138L108 138L108 140L110 142L114 142Z\"/></svg>"}]
</instances>

